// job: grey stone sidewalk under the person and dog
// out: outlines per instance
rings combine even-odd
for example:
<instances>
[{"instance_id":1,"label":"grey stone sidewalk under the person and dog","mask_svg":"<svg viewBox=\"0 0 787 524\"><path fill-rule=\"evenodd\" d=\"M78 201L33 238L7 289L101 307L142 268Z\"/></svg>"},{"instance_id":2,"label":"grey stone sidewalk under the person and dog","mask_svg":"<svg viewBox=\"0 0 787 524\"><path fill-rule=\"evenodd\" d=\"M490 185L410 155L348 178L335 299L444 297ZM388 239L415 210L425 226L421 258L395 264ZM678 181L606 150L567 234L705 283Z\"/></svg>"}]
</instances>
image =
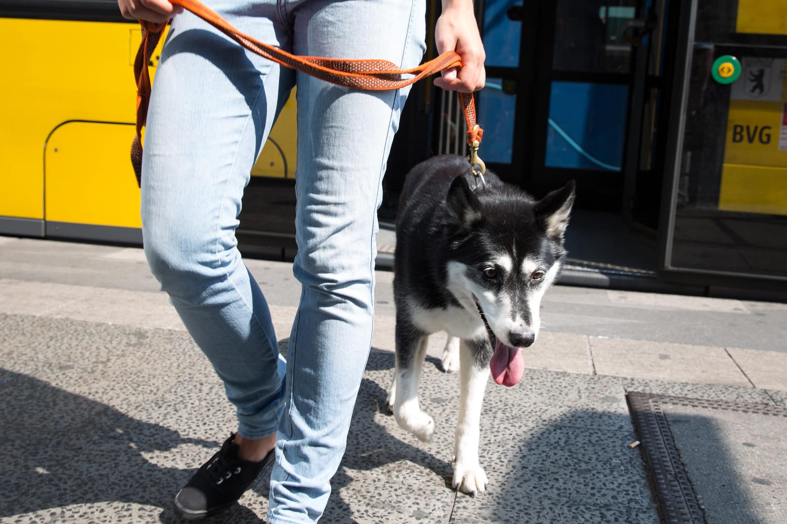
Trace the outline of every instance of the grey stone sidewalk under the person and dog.
<instances>
[{"instance_id":1,"label":"grey stone sidewalk under the person and dog","mask_svg":"<svg viewBox=\"0 0 787 524\"><path fill-rule=\"evenodd\" d=\"M300 293L290 264L247 265L286 341ZM697 483L708 522L787 521L787 417L700 416L667 397L783 409L787 305L556 286L522 382L487 388L490 486L467 497L450 488L458 379L439 370L441 337L421 389L434 441L384 412L392 277L377 275L373 349L323 522L660 522L642 450L628 447L628 391L661 395L689 476L728 478L745 511ZM139 249L0 237L0 361L2 522L175 522L172 496L235 427ZM715 456L689 453L698 435ZM209 522L260 522L267 493L260 478Z\"/></svg>"}]
</instances>

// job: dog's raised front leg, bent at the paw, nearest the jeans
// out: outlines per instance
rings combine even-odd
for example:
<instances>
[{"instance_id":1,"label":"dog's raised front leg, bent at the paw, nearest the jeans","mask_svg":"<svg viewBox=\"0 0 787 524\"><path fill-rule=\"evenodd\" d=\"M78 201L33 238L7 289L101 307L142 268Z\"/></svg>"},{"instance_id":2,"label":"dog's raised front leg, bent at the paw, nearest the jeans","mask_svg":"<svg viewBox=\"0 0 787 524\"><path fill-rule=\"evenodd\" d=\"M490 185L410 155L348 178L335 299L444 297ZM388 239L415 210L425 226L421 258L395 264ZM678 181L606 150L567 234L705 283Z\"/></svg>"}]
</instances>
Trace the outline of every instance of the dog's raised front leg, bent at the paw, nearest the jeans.
<instances>
[{"instance_id":1,"label":"dog's raised front leg, bent at the paw, nearest the jeans","mask_svg":"<svg viewBox=\"0 0 787 524\"><path fill-rule=\"evenodd\" d=\"M421 411L418 403L418 383L427 355L429 337L404 321L397 319L396 369L388 394L388 409L393 411L399 427L430 442L434 434L434 419Z\"/></svg>"}]
</instances>

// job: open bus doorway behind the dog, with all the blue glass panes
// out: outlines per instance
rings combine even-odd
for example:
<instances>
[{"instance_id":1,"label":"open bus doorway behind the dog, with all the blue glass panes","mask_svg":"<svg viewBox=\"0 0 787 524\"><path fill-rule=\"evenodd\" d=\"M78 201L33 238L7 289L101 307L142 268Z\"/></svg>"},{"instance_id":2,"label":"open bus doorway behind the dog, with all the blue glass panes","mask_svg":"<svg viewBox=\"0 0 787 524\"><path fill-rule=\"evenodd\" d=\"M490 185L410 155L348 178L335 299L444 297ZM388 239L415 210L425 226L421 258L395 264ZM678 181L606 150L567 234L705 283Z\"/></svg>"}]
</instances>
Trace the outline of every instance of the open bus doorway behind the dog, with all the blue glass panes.
<instances>
[{"instance_id":1,"label":"open bus doorway behind the dog, with all the blue glass panes","mask_svg":"<svg viewBox=\"0 0 787 524\"><path fill-rule=\"evenodd\" d=\"M573 178L578 207L638 207L656 222L658 191L645 185L661 183L652 173L667 3L486 0L487 84L478 93L486 163L536 193Z\"/></svg>"}]
</instances>

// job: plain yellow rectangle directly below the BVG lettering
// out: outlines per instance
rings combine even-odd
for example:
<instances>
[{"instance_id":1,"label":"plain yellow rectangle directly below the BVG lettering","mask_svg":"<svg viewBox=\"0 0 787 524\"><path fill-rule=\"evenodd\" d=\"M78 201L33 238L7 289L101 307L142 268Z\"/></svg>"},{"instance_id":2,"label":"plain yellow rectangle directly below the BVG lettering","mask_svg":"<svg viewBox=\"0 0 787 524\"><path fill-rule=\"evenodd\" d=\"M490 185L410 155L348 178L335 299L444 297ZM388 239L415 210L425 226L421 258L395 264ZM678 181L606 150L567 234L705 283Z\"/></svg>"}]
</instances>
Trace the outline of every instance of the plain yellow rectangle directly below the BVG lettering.
<instances>
[{"instance_id":1,"label":"plain yellow rectangle directly below the BVG lettering","mask_svg":"<svg viewBox=\"0 0 787 524\"><path fill-rule=\"evenodd\" d=\"M787 215L787 168L725 163L719 209Z\"/></svg>"}]
</instances>

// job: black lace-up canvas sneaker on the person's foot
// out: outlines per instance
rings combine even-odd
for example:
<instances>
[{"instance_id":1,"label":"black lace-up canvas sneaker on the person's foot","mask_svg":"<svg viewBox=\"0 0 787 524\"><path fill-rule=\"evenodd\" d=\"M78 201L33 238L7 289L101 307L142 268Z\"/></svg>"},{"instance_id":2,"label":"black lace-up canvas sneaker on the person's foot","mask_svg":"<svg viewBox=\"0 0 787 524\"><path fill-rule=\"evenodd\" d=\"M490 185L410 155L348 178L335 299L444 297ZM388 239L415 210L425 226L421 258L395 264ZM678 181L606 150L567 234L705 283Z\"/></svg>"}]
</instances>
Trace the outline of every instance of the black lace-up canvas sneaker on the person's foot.
<instances>
[{"instance_id":1,"label":"black lace-up canvas sneaker on the person's foot","mask_svg":"<svg viewBox=\"0 0 787 524\"><path fill-rule=\"evenodd\" d=\"M183 519L204 519L227 510L249 489L260 471L273 462L273 449L260 462L239 458L234 439L235 433L175 496L175 511Z\"/></svg>"}]
</instances>

